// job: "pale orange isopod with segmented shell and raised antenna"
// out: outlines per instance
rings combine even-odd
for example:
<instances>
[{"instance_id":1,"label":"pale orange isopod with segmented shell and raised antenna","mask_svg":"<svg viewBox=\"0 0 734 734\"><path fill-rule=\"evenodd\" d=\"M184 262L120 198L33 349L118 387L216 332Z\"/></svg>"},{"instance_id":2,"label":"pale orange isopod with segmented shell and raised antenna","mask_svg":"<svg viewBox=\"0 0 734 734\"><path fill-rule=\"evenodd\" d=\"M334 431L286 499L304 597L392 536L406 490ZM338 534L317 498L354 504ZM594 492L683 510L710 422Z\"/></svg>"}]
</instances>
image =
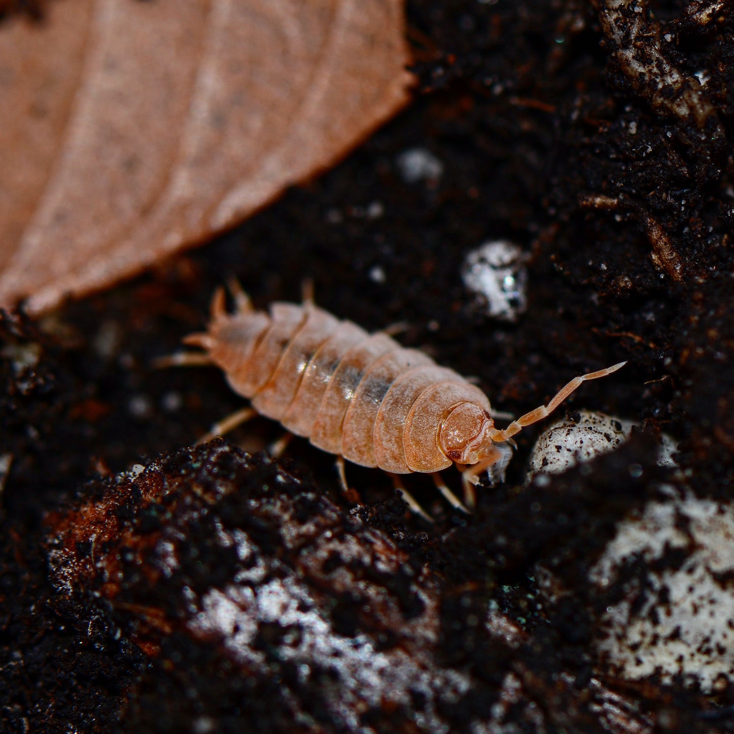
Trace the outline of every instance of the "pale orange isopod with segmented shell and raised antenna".
<instances>
[{"instance_id":1,"label":"pale orange isopod with segmented shell and raised antenna","mask_svg":"<svg viewBox=\"0 0 734 734\"><path fill-rule=\"evenodd\" d=\"M219 288L206 333L184 339L185 344L206 350L206 355L169 360L214 363L230 387L250 399L251 408L222 421L214 433L252 415L264 415L341 460L393 476L430 473L458 507L461 503L438 472L457 465L465 501L473 505L473 487L482 473L489 470L495 479L503 476L512 457L512 436L545 418L581 382L606 377L625 365L620 362L575 377L548 405L498 429L482 390L437 365L425 352L400 346L384 332L369 334L310 299L302 305L274 302L265 313L252 307L239 286L230 287L234 313L228 312L225 291ZM404 496L415 512L424 515L408 493Z\"/></svg>"}]
</instances>

